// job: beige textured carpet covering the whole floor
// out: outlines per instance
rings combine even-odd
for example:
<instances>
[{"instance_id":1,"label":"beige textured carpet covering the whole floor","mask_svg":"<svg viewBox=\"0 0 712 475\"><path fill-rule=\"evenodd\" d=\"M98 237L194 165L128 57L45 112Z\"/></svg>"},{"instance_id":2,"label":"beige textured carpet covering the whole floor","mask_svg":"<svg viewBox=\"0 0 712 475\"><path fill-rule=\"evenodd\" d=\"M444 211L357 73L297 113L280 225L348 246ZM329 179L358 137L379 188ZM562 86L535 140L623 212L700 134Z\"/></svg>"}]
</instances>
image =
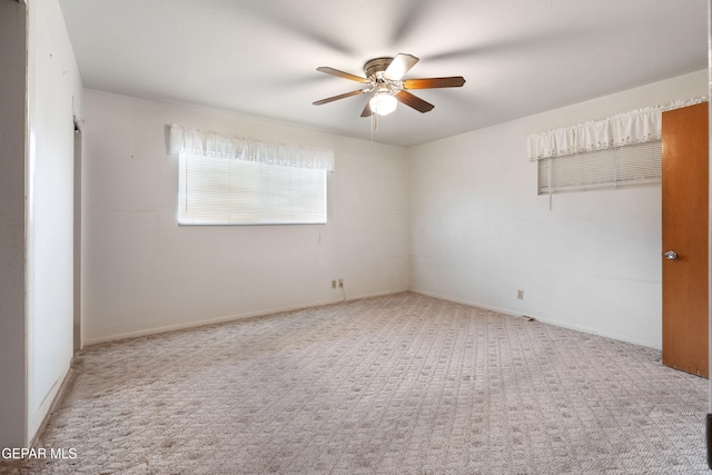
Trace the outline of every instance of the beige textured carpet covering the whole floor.
<instances>
[{"instance_id":1,"label":"beige textured carpet covering the whole floor","mask_svg":"<svg viewBox=\"0 0 712 475\"><path fill-rule=\"evenodd\" d=\"M708 382L660 357L416 294L284 313L88 348L38 445L77 457L4 469L708 473Z\"/></svg>"}]
</instances>

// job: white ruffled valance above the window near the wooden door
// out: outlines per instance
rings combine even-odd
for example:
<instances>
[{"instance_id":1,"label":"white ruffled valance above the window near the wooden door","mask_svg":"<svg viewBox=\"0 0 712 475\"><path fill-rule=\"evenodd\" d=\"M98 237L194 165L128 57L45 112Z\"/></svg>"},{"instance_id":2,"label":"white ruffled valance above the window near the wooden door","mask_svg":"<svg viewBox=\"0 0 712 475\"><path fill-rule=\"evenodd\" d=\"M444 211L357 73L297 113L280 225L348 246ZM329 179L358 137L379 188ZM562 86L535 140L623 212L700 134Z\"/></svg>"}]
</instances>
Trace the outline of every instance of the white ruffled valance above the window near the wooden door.
<instances>
[{"instance_id":1,"label":"white ruffled valance above the window near the wooden door","mask_svg":"<svg viewBox=\"0 0 712 475\"><path fill-rule=\"evenodd\" d=\"M678 100L662 106L617 113L603 120L592 120L577 126L532 133L527 137L528 158L530 160L541 160L660 140L664 111L693 106L706 100L706 97Z\"/></svg>"}]
</instances>

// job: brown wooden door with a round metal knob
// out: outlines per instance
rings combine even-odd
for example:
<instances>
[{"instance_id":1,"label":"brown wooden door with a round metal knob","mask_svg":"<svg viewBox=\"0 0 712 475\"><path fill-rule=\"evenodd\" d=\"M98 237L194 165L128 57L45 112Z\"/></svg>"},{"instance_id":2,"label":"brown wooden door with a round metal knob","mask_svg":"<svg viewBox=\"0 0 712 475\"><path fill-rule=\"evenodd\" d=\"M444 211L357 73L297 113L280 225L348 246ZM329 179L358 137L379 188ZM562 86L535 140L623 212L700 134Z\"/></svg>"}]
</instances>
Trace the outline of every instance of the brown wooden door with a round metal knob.
<instances>
[{"instance_id":1,"label":"brown wooden door with a round metal knob","mask_svg":"<svg viewBox=\"0 0 712 475\"><path fill-rule=\"evenodd\" d=\"M663 364L709 377L708 103L663 112Z\"/></svg>"}]
</instances>

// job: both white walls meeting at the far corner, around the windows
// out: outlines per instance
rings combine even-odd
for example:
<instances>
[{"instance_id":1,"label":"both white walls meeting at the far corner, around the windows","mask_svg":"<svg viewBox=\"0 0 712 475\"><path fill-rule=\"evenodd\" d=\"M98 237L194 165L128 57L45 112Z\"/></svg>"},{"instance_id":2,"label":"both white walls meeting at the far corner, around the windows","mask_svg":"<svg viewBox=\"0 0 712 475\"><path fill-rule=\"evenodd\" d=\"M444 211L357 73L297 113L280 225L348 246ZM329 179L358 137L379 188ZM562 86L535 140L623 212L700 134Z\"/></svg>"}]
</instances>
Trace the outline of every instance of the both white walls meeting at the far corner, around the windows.
<instances>
[{"instance_id":1,"label":"both white walls meeting at the far corner, around the windows","mask_svg":"<svg viewBox=\"0 0 712 475\"><path fill-rule=\"evenodd\" d=\"M526 136L705 88L699 71L409 150L86 90L87 342L338 300L343 277L348 298L409 288L660 348L660 188L550 211ZM177 226L171 122L333 148L329 222Z\"/></svg>"}]
</instances>

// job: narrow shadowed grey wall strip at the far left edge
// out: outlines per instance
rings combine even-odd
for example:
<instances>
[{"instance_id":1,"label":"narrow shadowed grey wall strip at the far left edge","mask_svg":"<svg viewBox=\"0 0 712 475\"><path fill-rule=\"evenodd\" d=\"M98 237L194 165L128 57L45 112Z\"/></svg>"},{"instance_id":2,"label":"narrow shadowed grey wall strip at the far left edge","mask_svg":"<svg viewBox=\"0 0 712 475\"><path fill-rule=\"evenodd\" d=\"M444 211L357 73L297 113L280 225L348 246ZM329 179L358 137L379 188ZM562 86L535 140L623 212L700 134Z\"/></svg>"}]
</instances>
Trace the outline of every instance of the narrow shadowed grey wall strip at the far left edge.
<instances>
[{"instance_id":1,"label":"narrow shadowed grey wall strip at the far left edge","mask_svg":"<svg viewBox=\"0 0 712 475\"><path fill-rule=\"evenodd\" d=\"M26 23L0 1L0 447L24 444Z\"/></svg>"}]
</instances>

